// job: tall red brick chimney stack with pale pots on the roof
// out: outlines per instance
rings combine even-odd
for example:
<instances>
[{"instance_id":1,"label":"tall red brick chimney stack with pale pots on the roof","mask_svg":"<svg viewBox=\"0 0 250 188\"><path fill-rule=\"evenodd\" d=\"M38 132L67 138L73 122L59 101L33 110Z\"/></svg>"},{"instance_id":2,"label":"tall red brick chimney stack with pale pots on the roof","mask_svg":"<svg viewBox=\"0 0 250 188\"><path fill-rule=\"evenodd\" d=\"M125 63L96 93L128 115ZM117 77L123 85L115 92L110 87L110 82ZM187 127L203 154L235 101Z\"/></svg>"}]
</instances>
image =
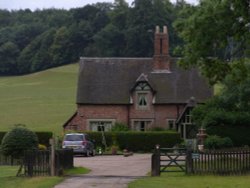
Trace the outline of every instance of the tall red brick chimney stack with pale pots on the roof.
<instances>
[{"instance_id":1,"label":"tall red brick chimney stack with pale pots on the roof","mask_svg":"<svg viewBox=\"0 0 250 188\"><path fill-rule=\"evenodd\" d=\"M154 39L154 72L169 72L170 71L170 56L168 44L167 26L163 26L163 31L156 26Z\"/></svg>"}]
</instances>

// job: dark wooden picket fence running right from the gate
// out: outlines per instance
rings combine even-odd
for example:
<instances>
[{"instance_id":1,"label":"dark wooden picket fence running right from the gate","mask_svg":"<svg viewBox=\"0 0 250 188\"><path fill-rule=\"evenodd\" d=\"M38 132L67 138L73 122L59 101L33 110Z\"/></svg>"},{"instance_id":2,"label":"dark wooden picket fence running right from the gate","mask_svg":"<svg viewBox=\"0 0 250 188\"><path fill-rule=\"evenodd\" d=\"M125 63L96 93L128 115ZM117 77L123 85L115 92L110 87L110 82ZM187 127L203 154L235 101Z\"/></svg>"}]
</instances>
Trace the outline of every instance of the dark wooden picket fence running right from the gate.
<instances>
[{"instance_id":1,"label":"dark wooden picket fence running right from the gate","mask_svg":"<svg viewBox=\"0 0 250 188\"><path fill-rule=\"evenodd\" d=\"M235 149L187 153L191 174L241 175L250 173L250 150Z\"/></svg>"}]
</instances>

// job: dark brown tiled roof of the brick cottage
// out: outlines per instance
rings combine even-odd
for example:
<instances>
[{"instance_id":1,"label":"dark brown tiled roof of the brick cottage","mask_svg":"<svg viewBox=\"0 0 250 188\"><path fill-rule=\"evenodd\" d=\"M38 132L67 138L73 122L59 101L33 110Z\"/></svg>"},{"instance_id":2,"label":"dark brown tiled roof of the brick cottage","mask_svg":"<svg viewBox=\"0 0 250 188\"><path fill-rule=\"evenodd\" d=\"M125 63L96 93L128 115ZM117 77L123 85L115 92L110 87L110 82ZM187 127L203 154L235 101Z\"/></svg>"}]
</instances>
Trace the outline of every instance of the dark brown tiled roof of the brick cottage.
<instances>
[{"instance_id":1,"label":"dark brown tiled roof of the brick cottage","mask_svg":"<svg viewBox=\"0 0 250 188\"><path fill-rule=\"evenodd\" d=\"M138 78L148 80L155 104L187 103L190 97L202 102L212 95L197 70L178 68L175 58L171 58L170 72L153 71L153 58L81 58L77 103L129 104Z\"/></svg>"}]
</instances>

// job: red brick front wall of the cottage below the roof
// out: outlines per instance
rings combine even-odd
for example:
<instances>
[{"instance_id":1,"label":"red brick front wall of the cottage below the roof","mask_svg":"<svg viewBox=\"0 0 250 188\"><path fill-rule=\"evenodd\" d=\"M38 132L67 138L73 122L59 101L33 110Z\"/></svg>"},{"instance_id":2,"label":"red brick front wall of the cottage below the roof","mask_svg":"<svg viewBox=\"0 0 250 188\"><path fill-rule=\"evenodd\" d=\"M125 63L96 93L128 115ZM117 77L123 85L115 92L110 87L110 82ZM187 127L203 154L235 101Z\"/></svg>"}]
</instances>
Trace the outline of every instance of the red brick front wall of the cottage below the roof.
<instances>
[{"instance_id":1,"label":"red brick front wall of the cottage below the roof","mask_svg":"<svg viewBox=\"0 0 250 188\"><path fill-rule=\"evenodd\" d=\"M167 119L176 119L184 105L151 105L149 110L137 110L133 105L79 105L76 116L65 129L88 130L89 119L114 119L126 125L133 119L153 119L152 126L167 128Z\"/></svg>"}]
</instances>

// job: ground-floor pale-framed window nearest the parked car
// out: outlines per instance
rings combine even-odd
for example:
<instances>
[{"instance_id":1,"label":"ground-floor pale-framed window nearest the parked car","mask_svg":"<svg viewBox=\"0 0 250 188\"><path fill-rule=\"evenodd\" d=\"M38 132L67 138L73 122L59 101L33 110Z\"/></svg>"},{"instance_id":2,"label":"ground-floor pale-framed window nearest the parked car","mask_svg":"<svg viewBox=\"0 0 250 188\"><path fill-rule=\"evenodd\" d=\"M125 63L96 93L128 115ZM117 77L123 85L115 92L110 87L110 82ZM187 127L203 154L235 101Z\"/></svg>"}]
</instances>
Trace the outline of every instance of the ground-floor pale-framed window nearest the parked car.
<instances>
[{"instance_id":1,"label":"ground-floor pale-framed window nearest the parked car","mask_svg":"<svg viewBox=\"0 0 250 188\"><path fill-rule=\"evenodd\" d=\"M89 119L88 127L90 131L110 131L114 123L114 119Z\"/></svg>"}]
</instances>

